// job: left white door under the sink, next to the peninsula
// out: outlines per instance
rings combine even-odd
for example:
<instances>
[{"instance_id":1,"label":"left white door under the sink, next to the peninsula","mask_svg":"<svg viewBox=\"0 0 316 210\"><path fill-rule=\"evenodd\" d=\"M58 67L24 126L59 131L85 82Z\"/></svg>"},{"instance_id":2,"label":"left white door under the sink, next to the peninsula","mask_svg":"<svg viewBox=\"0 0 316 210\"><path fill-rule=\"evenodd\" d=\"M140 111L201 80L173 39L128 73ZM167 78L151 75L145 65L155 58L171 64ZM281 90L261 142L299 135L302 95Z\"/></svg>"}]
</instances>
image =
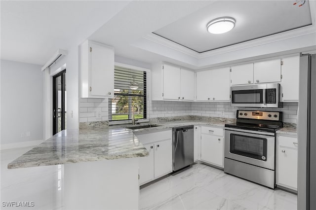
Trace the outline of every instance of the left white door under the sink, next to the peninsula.
<instances>
[{"instance_id":1,"label":"left white door under the sink, next to the peninsula","mask_svg":"<svg viewBox=\"0 0 316 210\"><path fill-rule=\"evenodd\" d=\"M139 158L139 184L142 185L154 179L154 144L145 144L149 156Z\"/></svg>"}]
</instances>

